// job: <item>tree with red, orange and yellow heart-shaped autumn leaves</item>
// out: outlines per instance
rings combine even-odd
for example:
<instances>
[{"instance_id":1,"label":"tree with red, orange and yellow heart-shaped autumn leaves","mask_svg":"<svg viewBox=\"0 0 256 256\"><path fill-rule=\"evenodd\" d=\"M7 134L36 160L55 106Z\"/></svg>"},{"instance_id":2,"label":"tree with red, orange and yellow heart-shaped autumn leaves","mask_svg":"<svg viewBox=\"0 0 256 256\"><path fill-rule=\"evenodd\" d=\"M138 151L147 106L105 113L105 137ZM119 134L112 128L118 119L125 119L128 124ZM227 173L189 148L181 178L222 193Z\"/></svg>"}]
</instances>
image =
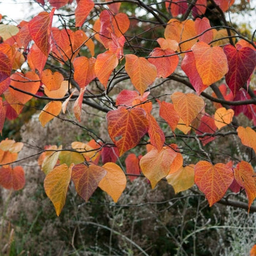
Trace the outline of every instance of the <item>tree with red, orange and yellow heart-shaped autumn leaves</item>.
<instances>
[{"instance_id":1,"label":"tree with red, orange and yellow heart-shaped autumn leaves","mask_svg":"<svg viewBox=\"0 0 256 256\"><path fill-rule=\"evenodd\" d=\"M36 2L44 11L32 20L0 24L0 130L24 106L40 110L43 127L62 118L85 130L86 142L35 153L58 216L70 182L85 201L99 187L117 202L126 177L141 176L255 211L256 46L226 20L233 1ZM105 114L111 141L79 123L86 105ZM70 106L77 121L60 117ZM22 148L0 143L6 189L25 185ZM224 198L228 189L248 206Z\"/></svg>"}]
</instances>

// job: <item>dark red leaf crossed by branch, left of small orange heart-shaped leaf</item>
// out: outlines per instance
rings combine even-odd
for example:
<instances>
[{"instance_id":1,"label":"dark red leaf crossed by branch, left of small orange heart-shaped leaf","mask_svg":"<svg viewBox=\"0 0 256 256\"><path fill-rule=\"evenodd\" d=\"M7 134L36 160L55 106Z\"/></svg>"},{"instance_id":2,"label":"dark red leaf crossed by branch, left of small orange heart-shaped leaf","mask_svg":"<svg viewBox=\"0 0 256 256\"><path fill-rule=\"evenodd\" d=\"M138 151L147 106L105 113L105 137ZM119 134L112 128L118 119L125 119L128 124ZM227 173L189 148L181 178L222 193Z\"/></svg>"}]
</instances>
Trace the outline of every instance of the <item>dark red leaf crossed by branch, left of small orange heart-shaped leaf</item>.
<instances>
[{"instance_id":1,"label":"dark red leaf crossed by branch, left of small orange heart-shaped leaf","mask_svg":"<svg viewBox=\"0 0 256 256\"><path fill-rule=\"evenodd\" d=\"M209 115L203 115L200 120L200 124L196 129L196 134L203 134L203 133L214 133L217 130L217 126L214 122L214 118L210 117ZM199 138L202 142L202 145L206 145L207 143L213 141L215 138L213 136L204 136L203 138Z\"/></svg>"}]
</instances>

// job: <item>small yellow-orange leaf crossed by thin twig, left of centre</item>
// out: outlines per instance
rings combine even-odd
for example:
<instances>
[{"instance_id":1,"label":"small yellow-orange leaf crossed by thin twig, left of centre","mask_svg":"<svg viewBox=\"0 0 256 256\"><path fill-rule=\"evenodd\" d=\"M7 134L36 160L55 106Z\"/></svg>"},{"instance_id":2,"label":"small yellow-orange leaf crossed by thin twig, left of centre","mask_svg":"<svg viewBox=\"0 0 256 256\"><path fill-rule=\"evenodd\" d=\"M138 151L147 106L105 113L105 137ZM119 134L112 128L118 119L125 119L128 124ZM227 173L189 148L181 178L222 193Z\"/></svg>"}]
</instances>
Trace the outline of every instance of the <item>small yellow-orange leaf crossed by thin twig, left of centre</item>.
<instances>
[{"instance_id":1,"label":"small yellow-orange leaf crossed by thin twig, left of centre","mask_svg":"<svg viewBox=\"0 0 256 256\"><path fill-rule=\"evenodd\" d=\"M45 127L46 123L48 123L58 114L60 114L61 107L61 101L51 101L47 105L45 105L45 107L39 114L39 121L43 127Z\"/></svg>"}]
</instances>

